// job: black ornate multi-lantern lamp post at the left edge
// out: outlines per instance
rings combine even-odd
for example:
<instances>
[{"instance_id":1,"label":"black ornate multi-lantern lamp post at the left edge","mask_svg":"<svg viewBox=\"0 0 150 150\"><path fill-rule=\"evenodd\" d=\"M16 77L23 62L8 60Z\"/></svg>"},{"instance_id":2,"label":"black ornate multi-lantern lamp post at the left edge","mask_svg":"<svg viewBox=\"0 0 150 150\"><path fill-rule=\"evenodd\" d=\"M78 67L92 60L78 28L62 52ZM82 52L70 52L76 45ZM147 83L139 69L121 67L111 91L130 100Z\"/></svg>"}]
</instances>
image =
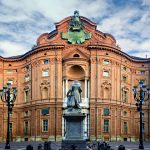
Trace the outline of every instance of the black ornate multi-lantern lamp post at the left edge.
<instances>
[{"instance_id":1,"label":"black ornate multi-lantern lamp post at the left edge","mask_svg":"<svg viewBox=\"0 0 150 150\"><path fill-rule=\"evenodd\" d=\"M11 88L11 84L7 83L6 87L3 87L3 89L0 89L0 97L2 102L7 104L8 107L8 119L7 119L7 139L6 139L6 145L5 149L10 149L10 144L9 144L9 130L10 130L10 113L12 112L12 108L14 106L14 102L16 100L17 96L17 89L16 87Z\"/></svg>"}]
</instances>

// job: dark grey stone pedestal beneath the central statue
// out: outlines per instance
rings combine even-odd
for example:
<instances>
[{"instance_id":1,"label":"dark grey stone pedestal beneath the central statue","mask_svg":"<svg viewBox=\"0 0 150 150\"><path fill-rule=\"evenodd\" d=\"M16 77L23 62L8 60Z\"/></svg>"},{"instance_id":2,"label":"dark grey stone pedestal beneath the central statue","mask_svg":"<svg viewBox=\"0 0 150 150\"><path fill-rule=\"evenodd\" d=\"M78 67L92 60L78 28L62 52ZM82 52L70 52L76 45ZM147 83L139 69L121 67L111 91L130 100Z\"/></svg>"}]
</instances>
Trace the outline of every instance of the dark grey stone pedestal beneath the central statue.
<instances>
[{"instance_id":1,"label":"dark grey stone pedestal beneath the central statue","mask_svg":"<svg viewBox=\"0 0 150 150\"><path fill-rule=\"evenodd\" d=\"M64 114L66 122L65 140L62 141L61 150L75 149L87 150L86 141L83 139L83 120L85 115L81 112Z\"/></svg>"}]
</instances>

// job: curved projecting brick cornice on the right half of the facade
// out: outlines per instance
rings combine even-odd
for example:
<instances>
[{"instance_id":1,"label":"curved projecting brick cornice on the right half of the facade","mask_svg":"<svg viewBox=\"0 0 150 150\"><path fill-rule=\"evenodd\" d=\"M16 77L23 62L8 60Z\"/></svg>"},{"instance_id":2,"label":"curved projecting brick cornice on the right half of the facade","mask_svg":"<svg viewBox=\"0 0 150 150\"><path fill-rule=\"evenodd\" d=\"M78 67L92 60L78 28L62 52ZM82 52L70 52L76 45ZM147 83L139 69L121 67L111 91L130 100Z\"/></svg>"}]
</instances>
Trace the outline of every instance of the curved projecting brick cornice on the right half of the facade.
<instances>
[{"instance_id":1,"label":"curved projecting brick cornice on the right half of the facade","mask_svg":"<svg viewBox=\"0 0 150 150\"><path fill-rule=\"evenodd\" d=\"M88 49L92 50L92 49L98 49L98 50L107 50L107 51L112 51L122 57L125 57L126 59L128 59L129 61L132 62L138 62L138 63L147 63L150 62L150 58L134 58L128 54L126 54L125 52L121 51L119 47L113 47L113 46L109 46L109 45L105 45L105 44L90 44L87 46Z\"/></svg>"}]
</instances>

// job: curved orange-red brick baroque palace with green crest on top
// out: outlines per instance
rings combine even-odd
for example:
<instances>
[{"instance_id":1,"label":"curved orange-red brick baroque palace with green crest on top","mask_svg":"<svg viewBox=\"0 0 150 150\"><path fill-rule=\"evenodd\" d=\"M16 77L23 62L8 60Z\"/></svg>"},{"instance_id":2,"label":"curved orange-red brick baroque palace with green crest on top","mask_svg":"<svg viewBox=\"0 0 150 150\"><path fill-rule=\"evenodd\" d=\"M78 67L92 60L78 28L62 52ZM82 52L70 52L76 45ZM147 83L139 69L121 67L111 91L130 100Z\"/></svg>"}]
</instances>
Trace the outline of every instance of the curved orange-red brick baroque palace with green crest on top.
<instances>
[{"instance_id":1,"label":"curved orange-red brick baroque palace with green crest on top","mask_svg":"<svg viewBox=\"0 0 150 150\"><path fill-rule=\"evenodd\" d=\"M132 89L150 85L150 59L129 56L115 38L96 29L75 11L44 33L32 50L0 57L0 88L7 83L18 93L10 114L13 141L62 140L66 93L81 83L84 138L109 141L139 139L139 112ZM150 140L150 102L143 104L144 140ZM7 134L7 106L0 101L0 142Z\"/></svg>"}]
</instances>

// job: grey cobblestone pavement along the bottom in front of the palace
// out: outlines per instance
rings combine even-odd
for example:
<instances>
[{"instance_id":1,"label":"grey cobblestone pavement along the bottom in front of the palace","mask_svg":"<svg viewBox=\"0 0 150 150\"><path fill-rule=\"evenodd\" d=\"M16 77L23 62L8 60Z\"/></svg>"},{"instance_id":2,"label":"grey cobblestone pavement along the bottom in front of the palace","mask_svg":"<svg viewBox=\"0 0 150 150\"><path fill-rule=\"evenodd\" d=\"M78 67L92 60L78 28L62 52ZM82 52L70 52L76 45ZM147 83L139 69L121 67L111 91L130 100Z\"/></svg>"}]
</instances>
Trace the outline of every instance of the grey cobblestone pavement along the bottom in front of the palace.
<instances>
[{"instance_id":1,"label":"grey cobblestone pavement along the bottom in front of the palace","mask_svg":"<svg viewBox=\"0 0 150 150\"><path fill-rule=\"evenodd\" d=\"M124 145L126 150L138 150L139 143L138 142L107 142L114 150L118 150L119 145ZM38 149L38 145L42 144L43 142L13 142L10 143L11 150L26 150L27 145L33 145L34 150ZM52 150L58 150L61 147L60 142L52 142L51 148ZM5 150L5 143L0 143L0 150ZM93 148L93 150L97 150ZM150 143L144 143L144 150L150 150Z\"/></svg>"}]
</instances>

